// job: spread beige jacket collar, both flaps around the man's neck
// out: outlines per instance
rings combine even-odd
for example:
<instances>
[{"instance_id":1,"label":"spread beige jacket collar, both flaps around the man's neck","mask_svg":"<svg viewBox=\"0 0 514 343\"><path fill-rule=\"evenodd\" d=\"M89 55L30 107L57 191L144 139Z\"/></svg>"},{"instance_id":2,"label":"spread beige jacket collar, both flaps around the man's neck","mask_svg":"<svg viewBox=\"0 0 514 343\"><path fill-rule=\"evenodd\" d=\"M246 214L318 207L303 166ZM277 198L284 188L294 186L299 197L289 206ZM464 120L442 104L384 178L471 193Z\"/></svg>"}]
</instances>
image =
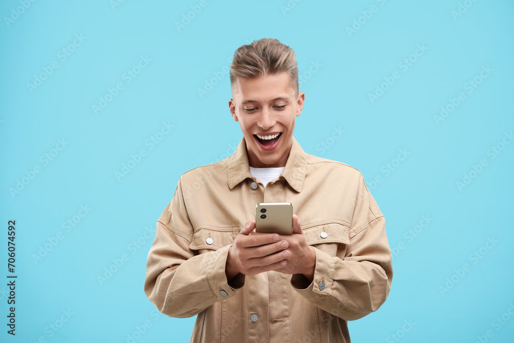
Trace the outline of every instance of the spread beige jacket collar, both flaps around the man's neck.
<instances>
[{"instance_id":1,"label":"spread beige jacket collar, both flaps around the man's neck","mask_svg":"<svg viewBox=\"0 0 514 343\"><path fill-rule=\"evenodd\" d=\"M301 192L306 170L306 153L300 147L300 143L298 143L295 137L292 137L292 147L280 177L284 177L292 189ZM250 173L250 165L248 163L246 141L245 137L243 137L228 161L228 186L232 189L246 178L252 178L252 174Z\"/></svg>"}]
</instances>

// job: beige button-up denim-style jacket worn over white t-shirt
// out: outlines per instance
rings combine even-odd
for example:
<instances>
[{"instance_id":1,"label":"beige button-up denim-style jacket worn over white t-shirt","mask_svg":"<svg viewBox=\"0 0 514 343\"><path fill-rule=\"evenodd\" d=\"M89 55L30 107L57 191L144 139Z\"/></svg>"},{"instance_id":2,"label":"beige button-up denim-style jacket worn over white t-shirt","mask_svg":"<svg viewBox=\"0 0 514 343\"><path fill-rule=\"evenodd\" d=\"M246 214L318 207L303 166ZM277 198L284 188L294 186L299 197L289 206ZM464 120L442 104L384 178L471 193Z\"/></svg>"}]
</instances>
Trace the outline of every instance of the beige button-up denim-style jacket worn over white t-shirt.
<instances>
[{"instance_id":1,"label":"beige button-up denim-style jacket worn over white t-shirt","mask_svg":"<svg viewBox=\"0 0 514 343\"><path fill-rule=\"evenodd\" d=\"M316 251L310 284L278 272L228 284L228 250L262 202L293 205ZM384 217L358 170L309 155L293 138L284 171L265 188L243 138L232 156L180 177L157 221L144 292L170 317L198 315L192 342L350 342L346 321L386 301L391 260Z\"/></svg>"}]
</instances>

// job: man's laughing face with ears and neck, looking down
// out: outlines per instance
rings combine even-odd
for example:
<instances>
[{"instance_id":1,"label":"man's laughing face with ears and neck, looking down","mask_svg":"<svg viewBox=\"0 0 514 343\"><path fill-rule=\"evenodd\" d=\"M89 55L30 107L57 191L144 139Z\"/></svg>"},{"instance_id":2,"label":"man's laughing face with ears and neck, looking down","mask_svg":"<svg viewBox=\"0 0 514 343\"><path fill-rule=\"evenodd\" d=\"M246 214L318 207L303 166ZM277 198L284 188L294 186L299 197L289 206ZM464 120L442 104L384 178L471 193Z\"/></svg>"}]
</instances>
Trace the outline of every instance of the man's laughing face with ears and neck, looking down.
<instances>
[{"instance_id":1,"label":"man's laughing face with ears and neck, looking down","mask_svg":"<svg viewBox=\"0 0 514 343\"><path fill-rule=\"evenodd\" d=\"M241 125L250 167L285 167L305 94L295 92L286 72L238 78L232 93L230 113Z\"/></svg>"}]
</instances>

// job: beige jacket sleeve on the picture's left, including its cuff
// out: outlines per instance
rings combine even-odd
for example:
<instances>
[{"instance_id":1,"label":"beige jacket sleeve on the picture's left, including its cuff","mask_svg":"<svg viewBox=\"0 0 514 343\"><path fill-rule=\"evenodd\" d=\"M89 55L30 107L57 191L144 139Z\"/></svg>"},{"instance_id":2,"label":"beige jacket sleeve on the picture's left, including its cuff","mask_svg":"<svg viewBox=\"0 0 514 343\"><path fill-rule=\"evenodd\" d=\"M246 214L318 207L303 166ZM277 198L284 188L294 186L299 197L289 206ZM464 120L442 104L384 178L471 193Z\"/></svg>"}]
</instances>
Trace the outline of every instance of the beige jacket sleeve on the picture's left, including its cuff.
<instances>
[{"instance_id":1,"label":"beige jacket sleeve on the picture's left, including its cuff","mask_svg":"<svg viewBox=\"0 0 514 343\"><path fill-rule=\"evenodd\" d=\"M157 221L144 282L148 299L170 317L192 317L235 295L236 288L244 284L238 277L231 281L234 288L227 282L225 265L231 245L198 255L190 249L193 231L180 179L172 201Z\"/></svg>"}]
</instances>

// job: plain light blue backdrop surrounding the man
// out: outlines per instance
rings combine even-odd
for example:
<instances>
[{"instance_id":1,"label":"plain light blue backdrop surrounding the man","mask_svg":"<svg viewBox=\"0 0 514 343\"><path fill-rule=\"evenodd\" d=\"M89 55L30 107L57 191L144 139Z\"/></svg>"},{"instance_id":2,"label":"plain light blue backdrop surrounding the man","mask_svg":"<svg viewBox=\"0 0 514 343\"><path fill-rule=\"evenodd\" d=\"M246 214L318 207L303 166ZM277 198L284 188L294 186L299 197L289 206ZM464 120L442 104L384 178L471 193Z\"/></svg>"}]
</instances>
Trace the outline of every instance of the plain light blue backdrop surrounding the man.
<instances>
[{"instance_id":1,"label":"plain light blue backdrop surrounding the man","mask_svg":"<svg viewBox=\"0 0 514 343\"><path fill-rule=\"evenodd\" d=\"M464 3L470 7L452 15ZM241 140L228 111L229 78L221 71L237 47L264 37L297 53L305 77L295 131L302 148L359 169L386 217L391 248L403 247L393 260L387 302L348 323L352 341L398 341L396 334L402 342L474 342L487 330L487 341L512 341L514 318L507 315L499 328L493 321L514 304L514 144L494 159L488 155L514 129L512 2L206 0L180 30L175 22L198 1L27 4L0 5L0 278L8 274L12 219L19 276L15 337L6 333L7 287L0 286L0 341L126 342L145 320L151 326L136 342L189 341L194 318L157 315L144 295L146 255L178 177L231 155ZM372 5L376 12L366 12ZM363 24L348 34L354 20ZM59 51L76 34L85 40L63 61ZM428 49L412 57L418 44ZM123 75L140 56L151 61L127 83ZM409 57L416 61L404 70L399 63ZM52 61L59 67L30 92L27 83ZM319 68L309 75L312 63ZM465 84L483 66L492 71L468 93ZM369 94L394 71L400 78L372 103ZM221 80L200 97L198 88L220 72ZM95 114L92 106L118 82L124 88ZM440 107L460 92L465 100L437 124ZM145 142L163 122L174 128L150 149ZM334 128L345 131L335 140ZM45 165L40 157L63 138L69 143ZM140 149L146 155L118 180L115 172ZM409 155L398 165L400 149ZM487 166L459 189L456 182L482 159ZM34 166L41 172L11 195ZM373 185L377 176L382 182ZM63 223L81 205L91 210L67 232ZM424 215L433 220L408 239ZM151 239L144 238L145 228ZM63 239L34 262L59 231ZM498 242L487 249L489 238ZM138 239L142 244L134 248ZM472 259L480 248L482 258ZM100 285L97 277L122 254L128 261ZM465 263L470 270L460 277L455 269ZM452 277L458 281L441 291ZM69 320L57 332L49 329L68 309ZM409 320L412 328L404 326Z\"/></svg>"}]
</instances>

